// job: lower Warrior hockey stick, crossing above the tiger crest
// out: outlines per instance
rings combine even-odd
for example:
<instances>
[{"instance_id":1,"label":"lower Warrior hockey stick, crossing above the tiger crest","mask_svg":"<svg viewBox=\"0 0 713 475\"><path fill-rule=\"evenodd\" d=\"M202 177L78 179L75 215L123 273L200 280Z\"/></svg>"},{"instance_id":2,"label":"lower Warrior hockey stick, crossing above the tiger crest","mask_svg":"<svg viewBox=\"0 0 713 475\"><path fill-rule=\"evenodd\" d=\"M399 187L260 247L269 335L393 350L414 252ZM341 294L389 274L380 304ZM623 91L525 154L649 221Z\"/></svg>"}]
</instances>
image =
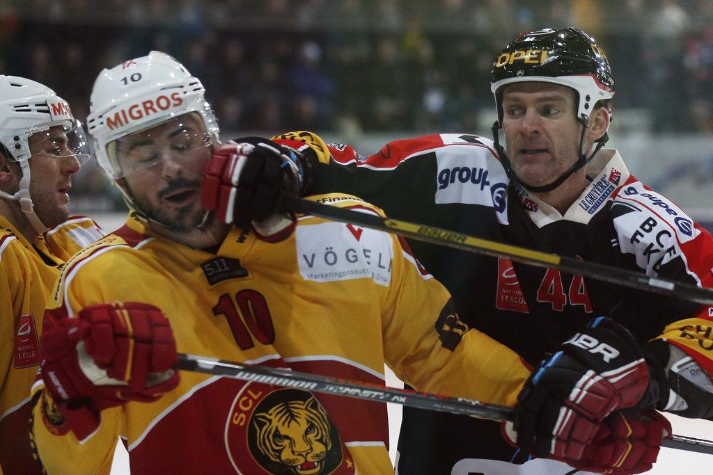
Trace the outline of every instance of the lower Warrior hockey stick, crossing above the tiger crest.
<instances>
[{"instance_id":1,"label":"lower Warrior hockey stick, crossing above the tiger crest","mask_svg":"<svg viewBox=\"0 0 713 475\"><path fill-rule=\"evenodd\" d=\"M176 367L179 370L234 377L238 380L260 382L266 385L294 387L306 391L355 397L373 402L393 402L394 404L418 407L419 409L463 414L480 417L481 419L492 419L494 421L509 421L513 419L512 407L486 404L460 397L439 396L427 392L399 390L394 387L313 375L308 372L260 365L241 365L237 362L198 355L178 353ZM713 454L712 441L694 439L693 437L674 434L668 439L663 439L661 445L671 449Z\"/></svg>"}]
</instances>

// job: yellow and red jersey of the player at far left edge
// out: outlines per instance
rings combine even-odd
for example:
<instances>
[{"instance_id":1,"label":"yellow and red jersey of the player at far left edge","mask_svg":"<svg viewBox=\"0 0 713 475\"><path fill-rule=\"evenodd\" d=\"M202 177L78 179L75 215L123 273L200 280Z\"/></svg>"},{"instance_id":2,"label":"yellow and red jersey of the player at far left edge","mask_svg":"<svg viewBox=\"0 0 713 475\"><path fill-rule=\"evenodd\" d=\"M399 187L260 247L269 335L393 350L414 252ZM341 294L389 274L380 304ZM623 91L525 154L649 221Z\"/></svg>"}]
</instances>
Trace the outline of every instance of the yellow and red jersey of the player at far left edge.
<instances>
[{"instance_id":1,"label":"yellow and red jersey of the player at far left edge","mask_svg":"<svg viewBox=\"0 0 713 475\"><path fill-rule=\"evenodd\" d=\"M37 471L27 424L48 293L65 261L102 236L94 221L72 216L29 242L0 216L0 473Z\"/></svg>"}]
</instances>

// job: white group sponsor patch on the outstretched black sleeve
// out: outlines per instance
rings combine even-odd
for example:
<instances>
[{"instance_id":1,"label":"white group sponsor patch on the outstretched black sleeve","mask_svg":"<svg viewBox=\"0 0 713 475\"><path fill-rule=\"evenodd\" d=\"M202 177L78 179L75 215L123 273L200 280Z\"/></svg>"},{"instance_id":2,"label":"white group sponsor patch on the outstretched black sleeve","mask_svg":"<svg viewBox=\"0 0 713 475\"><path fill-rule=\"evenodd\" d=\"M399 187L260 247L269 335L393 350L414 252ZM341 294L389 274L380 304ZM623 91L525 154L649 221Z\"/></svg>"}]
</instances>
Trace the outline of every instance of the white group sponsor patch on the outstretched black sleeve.
<instances>
[{"instance_id":1,"label":"white group sponsor patch on the outstretched black sleeve","mask_svg":"<svg viewBox=\"0 0 713 475\"><path fill-rule=\"evenodd\" d=\"M471 140L461 142L473 143ZM451 145L456 145L456 142ZM506 210L509 180L505 169L489 147L449 146L435 153L438 163L437 204L481 204L492 207L498 221L508 224Z\"/></svg>"}]
</instances>

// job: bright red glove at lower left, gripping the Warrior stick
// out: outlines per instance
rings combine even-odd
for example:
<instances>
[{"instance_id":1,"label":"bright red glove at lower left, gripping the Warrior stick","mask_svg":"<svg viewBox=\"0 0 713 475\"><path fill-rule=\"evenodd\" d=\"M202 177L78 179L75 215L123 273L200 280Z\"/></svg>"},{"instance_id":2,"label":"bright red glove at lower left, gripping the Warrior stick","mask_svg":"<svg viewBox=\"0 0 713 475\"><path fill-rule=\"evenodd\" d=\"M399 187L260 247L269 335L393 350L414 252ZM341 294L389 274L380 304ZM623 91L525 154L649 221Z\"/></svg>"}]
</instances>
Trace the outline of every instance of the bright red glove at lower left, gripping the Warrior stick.
<instances>
[{"instance_id":1,"label":"bright red glove at lower left, gripping the Warrior stick","mask_svg":"<svg viewBox=\"0 0 713 475\"><path fill-rule=\"evenodd\" d=\"M168 320L145 303L102 303L78 318L45 314L42 379L66 409L94 412L128 401L152 402L180 379Z\"/></svg>"}]
</instances>

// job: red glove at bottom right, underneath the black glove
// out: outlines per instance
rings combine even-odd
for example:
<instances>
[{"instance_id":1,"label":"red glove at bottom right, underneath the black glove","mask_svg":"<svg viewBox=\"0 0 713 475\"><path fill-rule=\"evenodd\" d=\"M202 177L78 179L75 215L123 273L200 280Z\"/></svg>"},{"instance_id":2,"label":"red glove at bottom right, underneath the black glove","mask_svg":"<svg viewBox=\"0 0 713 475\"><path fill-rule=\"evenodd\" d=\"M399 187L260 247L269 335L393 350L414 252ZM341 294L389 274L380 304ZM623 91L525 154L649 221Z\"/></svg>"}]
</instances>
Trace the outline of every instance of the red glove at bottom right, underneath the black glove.
<instances>
[{"instance_id":1,"label":"red glove at bottom right, underneath the black glove","mask_svg":"<svg viewBox=\"0 0 713 475\"><path fill-rule=\"evenodd\" d=\"M620 411L604 419L580 460L559 459L582 471L627 475L649 471L671 423L656 411Z\"/></svg>"}]
</instances>

